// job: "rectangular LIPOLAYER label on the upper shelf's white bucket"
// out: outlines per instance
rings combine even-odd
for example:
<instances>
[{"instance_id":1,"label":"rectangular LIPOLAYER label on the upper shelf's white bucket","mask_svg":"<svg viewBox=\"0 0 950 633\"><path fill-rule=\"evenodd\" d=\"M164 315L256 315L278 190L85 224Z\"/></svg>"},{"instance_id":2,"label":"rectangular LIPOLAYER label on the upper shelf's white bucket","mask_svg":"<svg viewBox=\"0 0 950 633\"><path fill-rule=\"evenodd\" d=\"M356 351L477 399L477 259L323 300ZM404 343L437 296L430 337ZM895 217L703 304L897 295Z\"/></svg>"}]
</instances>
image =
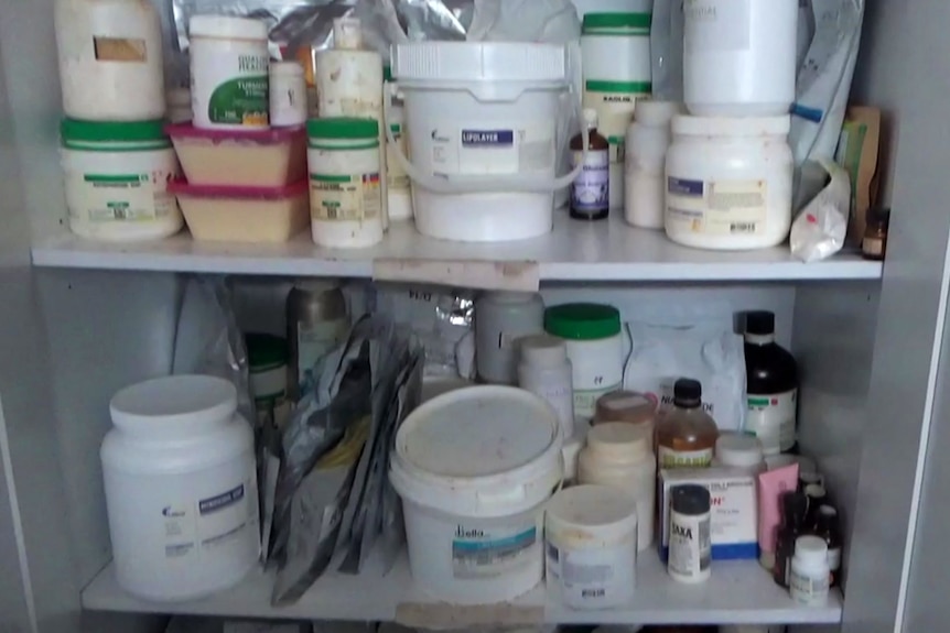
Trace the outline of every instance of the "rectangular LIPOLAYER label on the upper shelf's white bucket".
<instances>
[{"instance_id":1,"label":"rectangular LIPOLAYER label on the upper shelf's white bucket","mask_svg":"<svg viewBox=\"0 0 950 633\"><path fill-rule=\"evenodd\" d=\"M554 125L433 125L434 175L518 174L554 170Z\"/></svg>"}]
</instances>

